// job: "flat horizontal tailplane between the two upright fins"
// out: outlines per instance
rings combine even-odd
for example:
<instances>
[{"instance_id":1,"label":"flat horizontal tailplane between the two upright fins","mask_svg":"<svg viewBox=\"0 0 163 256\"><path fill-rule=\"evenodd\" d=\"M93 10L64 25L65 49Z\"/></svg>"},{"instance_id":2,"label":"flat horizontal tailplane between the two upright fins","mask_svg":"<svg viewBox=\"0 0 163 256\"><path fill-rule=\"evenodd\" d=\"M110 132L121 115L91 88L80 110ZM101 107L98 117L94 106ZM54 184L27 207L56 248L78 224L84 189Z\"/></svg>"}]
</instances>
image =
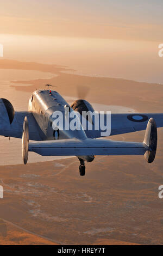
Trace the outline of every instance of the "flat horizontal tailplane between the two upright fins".
<instances>
[{"instance_id":1,"label":"flat horizontal tailplane between the two upright fins","mask_svg":"<svg viewBox=\"0 0 163 256\"><path fill-rule=\"evenodd\" d=\"M148 149L144 143L119 142L109 139L59 139L58 141L30 142L29 151L42 156L81 155L144 155Z\"/></svg>"}]
</instances>

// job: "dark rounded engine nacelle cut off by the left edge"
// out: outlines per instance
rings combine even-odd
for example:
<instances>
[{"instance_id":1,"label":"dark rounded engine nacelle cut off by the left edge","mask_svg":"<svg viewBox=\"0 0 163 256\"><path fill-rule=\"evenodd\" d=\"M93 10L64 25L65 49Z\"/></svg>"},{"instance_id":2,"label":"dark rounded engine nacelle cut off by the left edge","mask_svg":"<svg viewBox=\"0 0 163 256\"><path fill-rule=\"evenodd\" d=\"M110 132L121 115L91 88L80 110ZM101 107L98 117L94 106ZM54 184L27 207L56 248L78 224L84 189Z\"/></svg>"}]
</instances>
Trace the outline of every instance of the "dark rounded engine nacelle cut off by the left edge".
<instances>
[{"instance_id":1,"label":"dark rounded engine nacelle cut off by the left edge","mask_svg":"<svg viewBox=\"0 0 163 256\"><path fill-rule=\"evenodd\" d=\"M12 123L15 110L9 100L0 98L0 115L3 117L3 119L9 119L10 124Z\"/></svg>"}]
</instances>

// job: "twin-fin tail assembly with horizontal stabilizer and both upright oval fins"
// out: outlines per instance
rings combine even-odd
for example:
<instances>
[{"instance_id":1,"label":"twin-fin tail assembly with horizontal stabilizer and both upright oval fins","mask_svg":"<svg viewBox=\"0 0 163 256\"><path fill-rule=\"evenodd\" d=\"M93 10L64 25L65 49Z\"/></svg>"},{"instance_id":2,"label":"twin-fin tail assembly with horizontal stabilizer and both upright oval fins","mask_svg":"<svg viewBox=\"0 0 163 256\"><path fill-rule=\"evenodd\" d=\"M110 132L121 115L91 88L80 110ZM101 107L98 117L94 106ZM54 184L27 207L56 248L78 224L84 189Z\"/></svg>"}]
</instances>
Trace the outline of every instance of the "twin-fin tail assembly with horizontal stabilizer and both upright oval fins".
<instances>
[{"instance_id":1,"label":"twin-fin tail assembly with horizontal stabilizer and both upright oval fins","mask_svg":"<svg viewBox=\"0 0 163 256\"><path fill-rule=\"evenodd\" d=\"M94 156L94 155L144 155L148 163L155 159L157 128L153 118L149 119L142 143L110 141L109 139L59 139L29 143L27 117L24 118L22 136L22 157L28 160L28 151L42 156Z\"/></svg>"}]
</instances>

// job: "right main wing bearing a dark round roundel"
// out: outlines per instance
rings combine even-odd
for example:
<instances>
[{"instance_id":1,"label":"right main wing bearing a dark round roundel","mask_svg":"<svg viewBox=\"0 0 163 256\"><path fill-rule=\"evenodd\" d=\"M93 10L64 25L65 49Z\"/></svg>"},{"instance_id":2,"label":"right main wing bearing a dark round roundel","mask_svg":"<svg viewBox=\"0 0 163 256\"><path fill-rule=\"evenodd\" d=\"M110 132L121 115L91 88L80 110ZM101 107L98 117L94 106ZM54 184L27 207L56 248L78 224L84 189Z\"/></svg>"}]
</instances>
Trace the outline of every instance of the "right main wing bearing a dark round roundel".
<instances>
[{"instance_id":1,"label":"right main wing bearing a dark round roundel","mask_svg":"<svg viewBox=\"0 0 163 256\"><path fill-rule=\"evenodd\" d=\"M154 118L157 127L163 126L163 114L111 114L111 135L118 135L122 133L135 132L146 130L148 120ZM106 115L105 115L106 120ZM94 126L94 125L93 125ZM99 138L103 132L100 128L99 130L85 130L86 136L88 138Z\"/></svg>"}]
</instances>

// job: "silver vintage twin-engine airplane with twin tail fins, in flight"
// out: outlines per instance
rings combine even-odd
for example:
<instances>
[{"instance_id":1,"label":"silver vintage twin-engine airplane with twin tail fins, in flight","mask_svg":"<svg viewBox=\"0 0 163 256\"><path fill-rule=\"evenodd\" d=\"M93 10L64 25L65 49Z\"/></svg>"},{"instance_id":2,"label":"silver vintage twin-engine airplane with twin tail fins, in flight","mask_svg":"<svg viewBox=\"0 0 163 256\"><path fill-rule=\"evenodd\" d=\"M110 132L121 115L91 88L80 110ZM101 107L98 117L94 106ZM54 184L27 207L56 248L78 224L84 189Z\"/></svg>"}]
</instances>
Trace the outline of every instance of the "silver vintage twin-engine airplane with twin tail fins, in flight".
<instances>
[{"instance_id":1,"label":"silver vintage twin-engine airplane with twin tail fins, in flight","mask_svg":"<svg viewBox=\"0 0 163 256\"><path fill-rule=\"evenodd\" d=\"M53 129L53 113L65 109L71 113L77 111L93 112L86 100L76 100L72 105L54 90L36 90L29 99L27 112L15 112L11 103L0 99L0 135L22 138L22 157L24 164L28 160L28 151L42 156L77 156L80 161L80 175L85 175L85 161L93 161L95 155L145 155L147 162L153 162L156 154L157 128L163 126L163 114L111 114L111 133L145 130L142 143L121 142L101 137L99 130L83 129L79 117L80 130ZM90 120L87 120L89 122ZM92 126L93 120L91 120ZM147 127L147 128L146 128ZM29 140L34 142L29 142Z\"/></svg>"}]
</instances>

